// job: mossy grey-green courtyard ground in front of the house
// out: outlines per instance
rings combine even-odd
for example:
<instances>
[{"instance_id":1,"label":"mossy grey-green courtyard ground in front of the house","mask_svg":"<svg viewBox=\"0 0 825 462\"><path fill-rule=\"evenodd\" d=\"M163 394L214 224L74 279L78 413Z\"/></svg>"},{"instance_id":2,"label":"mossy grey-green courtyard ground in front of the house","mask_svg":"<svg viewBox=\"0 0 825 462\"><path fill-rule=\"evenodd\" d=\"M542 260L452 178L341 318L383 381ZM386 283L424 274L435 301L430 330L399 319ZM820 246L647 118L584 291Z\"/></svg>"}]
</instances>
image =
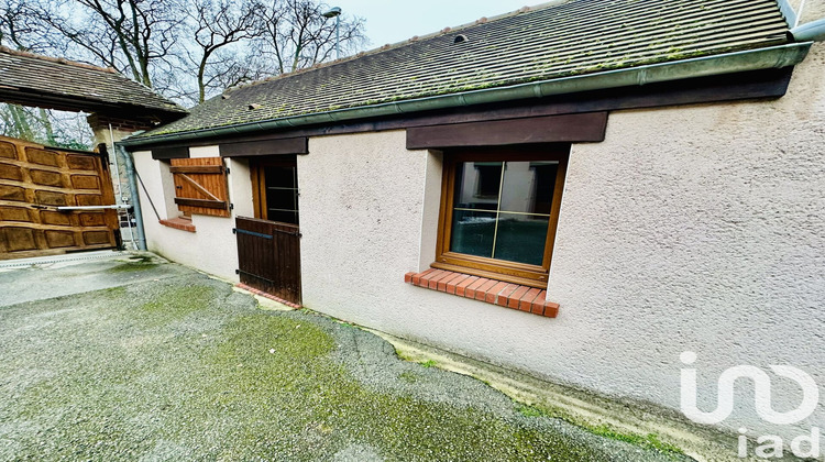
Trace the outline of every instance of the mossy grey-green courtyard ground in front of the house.
<instances>
[{"instance_id":1,"label":"mossy grey-green courtyard ground in front of the house","mask_svg":"<svg viewBox=\"0 0 825 462\"><path fill-rule=\"evenodd\" d=\"M0 306L0 460L688 460L177 265L97 265L125 285Z\"/></svg>"}]
</instances>

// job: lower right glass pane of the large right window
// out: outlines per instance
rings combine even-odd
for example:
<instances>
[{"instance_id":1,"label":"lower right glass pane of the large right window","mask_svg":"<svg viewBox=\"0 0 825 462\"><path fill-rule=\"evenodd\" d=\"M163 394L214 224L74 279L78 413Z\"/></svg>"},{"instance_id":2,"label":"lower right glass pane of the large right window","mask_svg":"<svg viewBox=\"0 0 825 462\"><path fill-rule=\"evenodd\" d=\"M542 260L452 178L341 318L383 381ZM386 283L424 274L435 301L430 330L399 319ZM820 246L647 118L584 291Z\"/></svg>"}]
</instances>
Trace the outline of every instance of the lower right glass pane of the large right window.
<instances>
[{"instance_id":1,"label":"lower right glass pane of the large right window","mask_svg":"<svg viewBox=\"0 0 825 462\"><path fill-rule=\"evenodd\" d=\"M494 257L541 265L549 222L549 217L502 212Z\"/></svg>"}]
</instances>

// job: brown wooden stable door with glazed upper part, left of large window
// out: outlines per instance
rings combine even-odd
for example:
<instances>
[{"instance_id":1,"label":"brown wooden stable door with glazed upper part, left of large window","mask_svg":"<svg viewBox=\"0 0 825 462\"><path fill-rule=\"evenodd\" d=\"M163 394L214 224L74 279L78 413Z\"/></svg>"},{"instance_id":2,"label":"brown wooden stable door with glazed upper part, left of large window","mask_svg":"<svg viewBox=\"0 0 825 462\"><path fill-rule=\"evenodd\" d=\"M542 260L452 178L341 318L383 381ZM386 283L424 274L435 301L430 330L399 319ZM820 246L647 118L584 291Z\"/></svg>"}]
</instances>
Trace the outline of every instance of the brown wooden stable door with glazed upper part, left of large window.
<instances>
[{"instance_id":1,"label":"brown wooden stable door with glazed upper part, left of large window","mask_svg":"<svg viewBox=\"0 0 825 462\"><path fill-rule=\"evenodd\" d=\"M300 305L298 174L294 155L253 160L255 218L238 217L241 282Z\"/></svg>"}]
</instances>

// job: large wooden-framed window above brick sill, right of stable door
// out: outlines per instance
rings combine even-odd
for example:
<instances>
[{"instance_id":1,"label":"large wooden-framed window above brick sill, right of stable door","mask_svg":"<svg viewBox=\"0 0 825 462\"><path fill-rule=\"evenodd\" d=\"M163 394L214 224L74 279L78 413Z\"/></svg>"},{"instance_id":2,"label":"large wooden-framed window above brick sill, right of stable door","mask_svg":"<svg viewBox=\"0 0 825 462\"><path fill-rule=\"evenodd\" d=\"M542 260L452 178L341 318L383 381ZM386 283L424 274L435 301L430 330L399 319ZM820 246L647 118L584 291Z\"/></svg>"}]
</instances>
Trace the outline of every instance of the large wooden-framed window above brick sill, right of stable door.
<instances>
[{"instance_id":1,"label":"large wooden-framed window above brick sill, right of stable door","mask_svg":"<svg viewBox=\"0 0 825 462\"><path fill-rule=\"evenodd\" d=\"M433 267L547 286L570 145L444 153Z\"/></svg>"}]
</instances>

